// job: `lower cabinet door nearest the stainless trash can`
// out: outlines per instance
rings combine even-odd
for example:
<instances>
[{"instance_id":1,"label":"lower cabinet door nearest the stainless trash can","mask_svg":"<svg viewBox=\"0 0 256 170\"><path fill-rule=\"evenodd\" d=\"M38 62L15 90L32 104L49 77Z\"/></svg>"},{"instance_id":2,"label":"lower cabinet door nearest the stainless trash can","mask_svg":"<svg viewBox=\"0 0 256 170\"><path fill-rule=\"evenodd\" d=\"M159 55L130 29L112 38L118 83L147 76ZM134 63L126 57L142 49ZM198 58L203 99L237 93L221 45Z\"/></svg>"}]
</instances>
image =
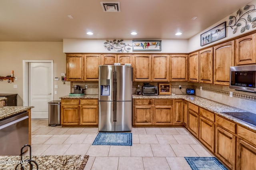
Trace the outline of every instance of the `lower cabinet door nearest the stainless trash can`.
<instances>
[{"instance_id":1,"label":"lower cabinet door nearest the stainless trash can","mask_svg":"<svg viewBox=\"0 0 256 170\"><path fill-rule=\"evenodd\" d=\"M61 124L79 125L79 106L61 106Z\"/></svg>"}]
</instances>

